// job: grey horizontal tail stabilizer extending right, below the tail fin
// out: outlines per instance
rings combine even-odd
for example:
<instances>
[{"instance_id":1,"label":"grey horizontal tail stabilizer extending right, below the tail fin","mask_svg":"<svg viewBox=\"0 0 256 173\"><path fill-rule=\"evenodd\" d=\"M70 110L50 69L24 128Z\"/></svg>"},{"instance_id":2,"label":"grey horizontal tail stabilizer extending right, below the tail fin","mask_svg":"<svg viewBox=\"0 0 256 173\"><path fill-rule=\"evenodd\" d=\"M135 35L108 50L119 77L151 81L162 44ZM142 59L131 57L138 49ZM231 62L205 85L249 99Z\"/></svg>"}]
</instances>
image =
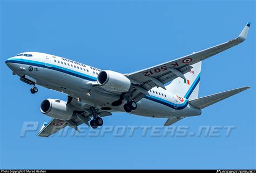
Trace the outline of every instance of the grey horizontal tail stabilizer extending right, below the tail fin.
<instances>
[{"instance_id":1,"label":"grey horizontal tail stabilizer extending right, below the tail fin","mask_svg":"<svg viewBox=\"0 0 256 173\"><path fill-rule=\"evenodd\" d=\"M228 98L230 96L233 96L241 91L249 89L249 86L245 86L242 88L237 88L225 92L215 93L214 95L205 96L197 99L193 99L188 101L192 106L197 107L198 109L204 109L207 106L210 106L214 103L219 102L220 100L223 100L225 98Z\"/></svg>"}]
</instances>

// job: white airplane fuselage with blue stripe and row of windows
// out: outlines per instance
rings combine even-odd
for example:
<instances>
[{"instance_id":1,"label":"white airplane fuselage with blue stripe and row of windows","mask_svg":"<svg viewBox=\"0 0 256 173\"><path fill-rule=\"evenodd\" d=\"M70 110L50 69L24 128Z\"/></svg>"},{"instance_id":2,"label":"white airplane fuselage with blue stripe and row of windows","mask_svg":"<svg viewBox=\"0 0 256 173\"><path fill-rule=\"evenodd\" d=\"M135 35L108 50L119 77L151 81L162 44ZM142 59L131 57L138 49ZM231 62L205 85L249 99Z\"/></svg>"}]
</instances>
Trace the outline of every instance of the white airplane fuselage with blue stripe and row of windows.
<instances>
[{"instance_id":1,"label":"white airplane fuselage with blue stripe and row of windows","mask_svg":"<svg viewBox=\"0 0 256 173\"><path fill-rule=\"evenodd\" d=\"M106 90L101 86L92 86L91 83L97 81L97 76L102 70L45 53L28 52L26 54L32 54L32 56L15 56L6 60L8 67L18 76L25 75L35 80L38 85L66 93L97 109L108 107L109 112L125 112L124 103L120 106L111 105L119 98L119 93ZM137 109L131 112L132 114L159 118L201 114L201 110L188 104L186 98L178 98L164 89L153 88L149 93L151 96L141 99L137 103Z\"/></svg>"}]
</instances>

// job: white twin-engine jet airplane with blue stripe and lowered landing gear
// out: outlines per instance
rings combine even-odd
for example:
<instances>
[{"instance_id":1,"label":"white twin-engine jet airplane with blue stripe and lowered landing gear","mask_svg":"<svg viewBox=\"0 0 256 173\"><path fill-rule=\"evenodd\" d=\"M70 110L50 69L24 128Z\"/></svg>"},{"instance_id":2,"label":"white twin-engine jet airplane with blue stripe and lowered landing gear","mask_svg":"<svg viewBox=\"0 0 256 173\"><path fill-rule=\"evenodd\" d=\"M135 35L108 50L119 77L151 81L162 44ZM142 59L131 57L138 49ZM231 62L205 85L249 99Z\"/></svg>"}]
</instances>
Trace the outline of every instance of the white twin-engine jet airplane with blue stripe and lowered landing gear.
<instances>
[{"instance_id":1,"label":"white twin-engine jet airplane with blue stripe and lowered landing gear","mask_svg":"<svg viewBox=\"0 0 256 173\"><path fill-rule=\"evenodd\" d=\"M19 53L5 63L12 74L32 86L32 94L38 92L36 85L41 85L67 95L66 101L42 101L41 112L52 119L44 122L38 136L48 137L66 126L77 131L81 124L97 128L103 125L102 118L113 112L167 118L164 126L170 126L199 116L205 107L250 88L198 98L201 62L243 42L250 25L246 24L239 37L223 44L129 74L38 52Z\"/></svg>"}]
</instances>

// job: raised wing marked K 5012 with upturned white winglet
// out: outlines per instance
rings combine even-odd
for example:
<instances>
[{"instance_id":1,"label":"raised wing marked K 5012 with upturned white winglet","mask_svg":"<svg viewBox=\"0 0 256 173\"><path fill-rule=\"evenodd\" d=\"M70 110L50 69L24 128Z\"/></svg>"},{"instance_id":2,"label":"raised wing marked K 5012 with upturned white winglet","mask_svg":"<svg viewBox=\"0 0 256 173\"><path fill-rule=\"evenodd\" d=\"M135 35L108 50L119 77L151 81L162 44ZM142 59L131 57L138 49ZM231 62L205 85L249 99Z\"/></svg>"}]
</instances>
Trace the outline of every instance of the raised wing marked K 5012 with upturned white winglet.
<instances>
[{"instance_id":1,"label":"raised wing marked K 5012 with upturned white winglet","mask_svg":"<svg viewBox=\"0 0 256 173\"><path fill-rule=\"evenodd\" d=\"M239 37L224 42L223 44L213 46L203 51L195 52L190 55L180 57L179 59L158 64L130 74L126 74L133 84L131 90L133 100L138 102L145 95L149 95L150 89L153 87L161 87L165 89L164 84L174 80L177 77L184 78L185 73L191 70L191 65L199 61L203 61L208 57L225 51L235 45L243 42L248 34L250 23L244 27Z\"/></svg>"}]
</instances>

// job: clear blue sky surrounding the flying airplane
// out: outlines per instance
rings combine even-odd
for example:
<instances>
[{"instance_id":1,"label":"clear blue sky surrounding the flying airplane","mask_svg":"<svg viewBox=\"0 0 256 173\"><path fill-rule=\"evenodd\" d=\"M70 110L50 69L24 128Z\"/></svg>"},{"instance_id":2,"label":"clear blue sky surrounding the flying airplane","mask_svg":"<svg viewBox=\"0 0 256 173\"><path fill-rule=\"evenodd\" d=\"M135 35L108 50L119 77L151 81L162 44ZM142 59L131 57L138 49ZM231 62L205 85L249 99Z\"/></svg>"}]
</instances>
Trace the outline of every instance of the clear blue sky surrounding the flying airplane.
<instances>
[{"instance_id":1,"label":"clear blue sky surrounding the flying airplane","mask_svg":"<svg viewBox=\"0 0 256 173\"><path fill-rule=\"evenodd\" d=\"M1 1L0 168L25 169L245 169L255 161L254 1ZM35 51L67 57L120 73L200 51L238 36L248 21L247 40L203 62L199 96L240 86L250 90L174 124L235 126L226 137L19 136L24 121L50 118L39 112L56 91L19 81L5 65L8 57ZM104 125L161 126L165 119L114 113ZM39 130L39 129L38 129Z\"/></svg>"}]
</instances>

